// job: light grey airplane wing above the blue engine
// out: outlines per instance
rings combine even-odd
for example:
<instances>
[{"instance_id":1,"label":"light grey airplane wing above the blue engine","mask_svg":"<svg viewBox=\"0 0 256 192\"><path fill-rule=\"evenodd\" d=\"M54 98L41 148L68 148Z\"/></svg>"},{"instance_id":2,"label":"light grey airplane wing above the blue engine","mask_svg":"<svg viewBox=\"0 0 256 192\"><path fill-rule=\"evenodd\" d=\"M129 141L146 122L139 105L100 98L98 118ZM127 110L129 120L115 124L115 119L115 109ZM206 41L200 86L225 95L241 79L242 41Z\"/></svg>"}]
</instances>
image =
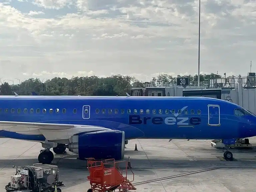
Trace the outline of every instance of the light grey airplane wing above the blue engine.
<instances>
[{"instance_id":1,"label":"light grey airplane wing above the blue engine","mask_svg":"<svg viewBox=\"0 0 256 192\"><path fill-rule=\"evenodd\" d=\"M110 130L100 126L55 124L55 123L29 123L0 121L0 131L16 132L24 135L44 135L48 141L70 143L71 136L92 131Z\"/></svg>"}]
</instances>

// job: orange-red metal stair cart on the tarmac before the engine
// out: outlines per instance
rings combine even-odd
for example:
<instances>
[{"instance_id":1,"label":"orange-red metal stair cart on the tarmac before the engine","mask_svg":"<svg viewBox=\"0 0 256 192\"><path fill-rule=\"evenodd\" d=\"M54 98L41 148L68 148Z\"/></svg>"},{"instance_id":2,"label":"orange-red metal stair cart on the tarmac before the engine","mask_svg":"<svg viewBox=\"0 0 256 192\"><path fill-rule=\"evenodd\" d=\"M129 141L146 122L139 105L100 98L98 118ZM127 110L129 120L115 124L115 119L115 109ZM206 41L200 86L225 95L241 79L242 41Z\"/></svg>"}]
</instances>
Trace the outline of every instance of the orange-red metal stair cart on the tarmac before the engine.
<instances>
[{"instance_id":1,"label":"orange-red metal stair cart on the tarmac before the engine","mask_svg":"<svg viewBox=\"0 0 256 192\"><path fill-rule=\"evenodd\" d=\"M124 170L120 170L121 163L125 166ZM87 160L87 167L90 175L87 180L90 181L91 189L87 192L110 192L118 190L126 192L136 190L132 185L134 181L127 179L127 161L115 162L115 159L106 159L104 161L95 161L94 159Z\"/></svg>"}]
</instances>

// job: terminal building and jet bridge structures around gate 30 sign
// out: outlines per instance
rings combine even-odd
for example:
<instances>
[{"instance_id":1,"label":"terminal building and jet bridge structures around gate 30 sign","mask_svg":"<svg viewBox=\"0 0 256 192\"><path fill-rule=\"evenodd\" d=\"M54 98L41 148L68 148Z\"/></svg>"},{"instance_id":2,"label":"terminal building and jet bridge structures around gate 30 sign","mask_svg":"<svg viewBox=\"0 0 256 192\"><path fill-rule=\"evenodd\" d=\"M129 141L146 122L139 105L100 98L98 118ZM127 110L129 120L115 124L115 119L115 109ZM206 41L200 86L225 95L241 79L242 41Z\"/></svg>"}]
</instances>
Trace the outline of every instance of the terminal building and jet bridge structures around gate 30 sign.
<instances>
[{"instance_id":1,"label":"terminal building and jet bridge structures around gate 30 sign","mask_svg":"<svg viewBox=\"0 0 256 192\"><path fill-rule=\"evenodd\" d=\"M180 83L182 82L183 83ZM181 85L182 84L182 85ZM132 88L131 96L198 96L211 97L236 103L256 113L256 76L206 79L197 85L188 78L178 78L177 82L158 82L156 85L145 84L144 87Z\"/></svg>"}]
</instances>

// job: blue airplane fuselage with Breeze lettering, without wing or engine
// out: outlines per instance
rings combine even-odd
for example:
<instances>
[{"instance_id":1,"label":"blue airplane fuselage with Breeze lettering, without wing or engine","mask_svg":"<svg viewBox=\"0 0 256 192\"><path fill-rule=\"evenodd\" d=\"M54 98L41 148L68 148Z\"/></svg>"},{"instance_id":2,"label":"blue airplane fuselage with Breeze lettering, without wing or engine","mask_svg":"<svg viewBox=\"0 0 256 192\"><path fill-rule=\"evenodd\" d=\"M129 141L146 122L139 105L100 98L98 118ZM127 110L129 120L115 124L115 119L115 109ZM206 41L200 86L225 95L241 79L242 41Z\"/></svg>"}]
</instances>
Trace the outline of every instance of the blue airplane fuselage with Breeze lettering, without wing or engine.
<instances>
[{"instance_id":1,"label":"blue airplane fuselage with Breeze lettering, without wing or engine","mask_svg":"<svg viewBox=\"0 0 256 192\"><path fill-rule=\"evenodd\" d=\"M235 115L236 104L202 97L0 97L0 121L101 126L125 139L231 139L256 135L252 114ZM44 141L40 131L0 136Z\"/></svg>"}]
</instances>

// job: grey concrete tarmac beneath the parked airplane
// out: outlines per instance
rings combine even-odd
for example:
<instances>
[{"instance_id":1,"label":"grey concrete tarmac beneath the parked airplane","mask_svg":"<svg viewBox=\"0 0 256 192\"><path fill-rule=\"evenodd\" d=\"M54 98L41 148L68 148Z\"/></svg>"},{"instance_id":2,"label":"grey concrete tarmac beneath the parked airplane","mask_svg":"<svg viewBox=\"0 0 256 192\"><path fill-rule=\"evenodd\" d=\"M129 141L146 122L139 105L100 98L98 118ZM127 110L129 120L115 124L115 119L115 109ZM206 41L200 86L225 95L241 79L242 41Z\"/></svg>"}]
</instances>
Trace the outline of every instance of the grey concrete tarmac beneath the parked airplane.
<instances>
[{"instance_id":1,"label":"grey concrete tarmac beneath the parked airplane","mask_svg":"<svg viewBox=\"0 0 256 192\"><path fill-rule=\"evenodd\" d=\"M126 145L130 156L135 192L253 192L256 187L256 137L249 138L252 149L230 149L234 161L223 159L224 149L211 147L210 140L135 139ZM134 151L137 144L138 151ZM0 138L0 188L15 173L12 165L38 163L40 143ZM90 188L86 161L67 151L55 155L60 169L62 192L86 192ZM128 179L132 173L128 170ZM118 191L118 190L116 190Z\"/></svg>"}]
</instances>

